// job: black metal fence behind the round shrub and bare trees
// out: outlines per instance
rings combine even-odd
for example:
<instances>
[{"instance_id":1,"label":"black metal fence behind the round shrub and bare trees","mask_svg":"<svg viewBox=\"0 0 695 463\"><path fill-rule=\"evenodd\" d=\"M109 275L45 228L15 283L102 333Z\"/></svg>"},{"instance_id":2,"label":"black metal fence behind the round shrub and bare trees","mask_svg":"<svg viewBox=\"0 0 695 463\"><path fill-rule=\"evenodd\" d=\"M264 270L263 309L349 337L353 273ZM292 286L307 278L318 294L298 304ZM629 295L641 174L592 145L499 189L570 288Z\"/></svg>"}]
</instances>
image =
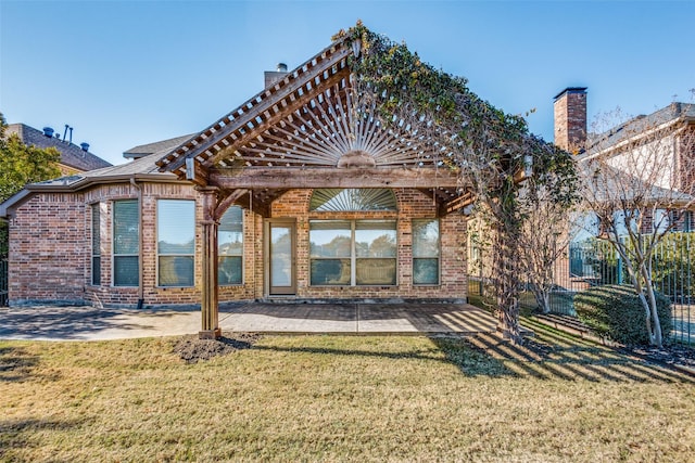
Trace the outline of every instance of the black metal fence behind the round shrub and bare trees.
<instances>
[{"instance_id":1,"label":"black metal fence behind the round shrub and bare trees","mask_svg":"<svg viewBox=\"0 0 695 463\"><path fill-rule=\"evenodd\" d=\"M656 290L671 299L673 332L671 337L695 343L695 233L670 233L659 243L653 261L652 278ZM624 262L615 247L605 240L591 239L572 243L568 255L555 266L555 288L548 306L554 313L577 316L574 295L581 291L606 284L630 284ZM486 283L470 278L468 294L473 301L485 294ZM536 309L530 291L521 294L519 304Z\"/></svg>"}]
</instances>

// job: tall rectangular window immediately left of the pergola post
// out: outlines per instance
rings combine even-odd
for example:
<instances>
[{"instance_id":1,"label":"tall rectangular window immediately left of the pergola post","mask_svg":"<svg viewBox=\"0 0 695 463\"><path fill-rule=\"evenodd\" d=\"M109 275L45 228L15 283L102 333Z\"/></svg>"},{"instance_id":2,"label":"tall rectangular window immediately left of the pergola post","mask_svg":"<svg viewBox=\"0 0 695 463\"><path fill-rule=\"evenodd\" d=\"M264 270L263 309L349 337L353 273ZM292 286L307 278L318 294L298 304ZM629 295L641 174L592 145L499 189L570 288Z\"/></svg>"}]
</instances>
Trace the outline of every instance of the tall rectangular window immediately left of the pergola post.
<instances>
[{"instance_id":1,"label":"tall rectangular window immediately left of the pergola post","mask_svg":"<svg viewBox=\"0 0 695 463\"><path fill-rule=\"evenodd\" d=\"M195 202L160 200L156 210L157 284L192 286L195 254Z\"/></svg>"}]
</instances>

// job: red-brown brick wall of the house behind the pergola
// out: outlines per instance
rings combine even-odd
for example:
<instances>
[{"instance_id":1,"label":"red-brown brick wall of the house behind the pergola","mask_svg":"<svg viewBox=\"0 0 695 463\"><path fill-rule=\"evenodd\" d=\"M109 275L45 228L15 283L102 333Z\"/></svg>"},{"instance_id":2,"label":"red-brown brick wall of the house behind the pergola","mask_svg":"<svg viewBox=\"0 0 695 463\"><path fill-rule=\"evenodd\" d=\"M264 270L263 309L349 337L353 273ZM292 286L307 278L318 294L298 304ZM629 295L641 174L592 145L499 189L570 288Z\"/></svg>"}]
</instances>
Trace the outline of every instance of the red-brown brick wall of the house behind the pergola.
<instances>
[{"instance_id":1,"label":"red-brown brick wall of the house behind the pergola","mask_svg":"<svg viewBox=\"0 0 695 463\"><path fill-rule=\"evenodd\" d=\"M113 202L135 200L142 194L142 290L113 286ZM271 218L292 218L296 223L298 297L302 298L465 298L466 219L451 215L440 219L441 281L439 285L414 285L412 265L412 220L437 217L432 200L416 190L397 190L399 213L309 213L311 190L290 191L276 200ZM157 286L156 204L157 200L197 201L195 285ZM101 284L91 284L91 210L100 210ZM309 285L308 222L311 219L382 219L397 223L396 286ZM91 304L97 307L198 306L201 300L202 210L198 193L185 183L129 183L98 187L85 193L42 193L17 208L10 226L11 305L34 303ZM219 301L264 298L266 220L244 210L243 284L219 287ZM141 293L140 293L141 291Z\"/></svg>"}]
</instances>

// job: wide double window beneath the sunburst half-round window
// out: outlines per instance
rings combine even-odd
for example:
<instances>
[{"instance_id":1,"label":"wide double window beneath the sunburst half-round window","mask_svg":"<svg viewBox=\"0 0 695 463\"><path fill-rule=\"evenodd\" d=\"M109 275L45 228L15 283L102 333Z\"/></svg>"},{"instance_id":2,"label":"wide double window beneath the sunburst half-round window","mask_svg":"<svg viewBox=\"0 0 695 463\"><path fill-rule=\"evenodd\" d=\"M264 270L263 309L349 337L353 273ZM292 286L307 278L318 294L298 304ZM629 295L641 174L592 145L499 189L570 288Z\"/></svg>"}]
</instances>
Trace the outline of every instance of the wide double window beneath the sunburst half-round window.
<instances>
[{"instance_id":1,"label":"wide double window beneath the sunburst half-round window","mask_svg":"<svg viewBox=\"0 0 695 463\"><path fill-rule=\"evenodd\" d=\"M312 285L395 285L395 220L313 220Z\"/></svg>"}]
</instances>

